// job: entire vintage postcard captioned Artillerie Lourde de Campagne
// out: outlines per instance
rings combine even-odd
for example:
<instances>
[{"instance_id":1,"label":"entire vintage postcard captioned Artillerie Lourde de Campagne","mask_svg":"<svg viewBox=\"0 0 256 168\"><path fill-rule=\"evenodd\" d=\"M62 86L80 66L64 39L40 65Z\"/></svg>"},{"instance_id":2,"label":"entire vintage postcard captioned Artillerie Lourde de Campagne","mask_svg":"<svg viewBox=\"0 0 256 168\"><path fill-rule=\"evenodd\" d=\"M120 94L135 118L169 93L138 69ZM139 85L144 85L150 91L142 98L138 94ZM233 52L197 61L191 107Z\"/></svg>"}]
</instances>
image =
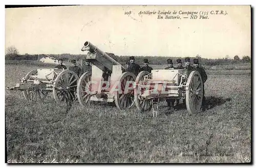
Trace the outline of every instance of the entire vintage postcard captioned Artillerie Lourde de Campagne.
<instances>
[{"instance_id":1,"label":"entire vintage postcard captioned Artillerie Lourde de Campagne","mask_svg":"<svg viewBox=\"0 0 256 168\"><path fill-rule=\"evenodd\" d=\"M7 163L251 163L251 6L5 14Z\"/></svg>"}]
</instances>

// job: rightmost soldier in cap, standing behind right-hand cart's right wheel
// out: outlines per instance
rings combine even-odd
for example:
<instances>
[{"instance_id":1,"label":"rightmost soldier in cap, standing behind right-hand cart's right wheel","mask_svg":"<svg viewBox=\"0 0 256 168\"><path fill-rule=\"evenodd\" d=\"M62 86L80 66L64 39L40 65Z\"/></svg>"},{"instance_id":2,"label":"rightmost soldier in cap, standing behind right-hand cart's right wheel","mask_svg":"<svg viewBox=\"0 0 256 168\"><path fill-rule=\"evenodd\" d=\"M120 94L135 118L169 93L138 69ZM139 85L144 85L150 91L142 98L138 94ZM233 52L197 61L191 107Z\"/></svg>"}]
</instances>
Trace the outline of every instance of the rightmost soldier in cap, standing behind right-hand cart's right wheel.
<instances>
[{"instance_id":1,"label":"rightmost soldier in cap, standing behind right-hand cart's right wheel","mask_svg":"<svg viewBox=\"0 0 256 168\"><path fill-rule=\"evenodd\" d=\"M205 111L205 96L204 96L204 83L207 80L208 76L205 73L205 70L202 67L199 67L199 61L198 59L194 59L194 67L193 70L196 70L200 73L202 80L203 80L203 101L202 101L202 109Z\"/></svg>"}]
</instances>

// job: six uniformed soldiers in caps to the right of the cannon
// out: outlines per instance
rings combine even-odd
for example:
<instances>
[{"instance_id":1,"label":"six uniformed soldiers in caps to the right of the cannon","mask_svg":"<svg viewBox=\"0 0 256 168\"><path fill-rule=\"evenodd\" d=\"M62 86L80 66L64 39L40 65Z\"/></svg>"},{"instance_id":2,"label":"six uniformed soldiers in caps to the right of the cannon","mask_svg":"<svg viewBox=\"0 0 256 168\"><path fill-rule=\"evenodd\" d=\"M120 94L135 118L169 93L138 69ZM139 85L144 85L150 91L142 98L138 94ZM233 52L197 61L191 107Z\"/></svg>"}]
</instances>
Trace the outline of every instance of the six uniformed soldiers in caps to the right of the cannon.
<instances>
[{"instance_id":1,"label":"six uniformed soldiers in caps to the right of the cannon","mask_svg":"<svg viewBox=\"0 0 256 168\"><path fill-rule=\"evenodd\" d=\"M139 74L140 71L148 71L151 73L151 71L153 70L152 67L148 66L148 59L144 59L144 67L140 68L140 66L138 64L135 63L135 58L134 57L130 57L130 61L126 62L126 71L128 72L132 72L134 73L136 76ZM196 70L200 73L202 80L203 80L203 100L202 100L202 110L205 111L206 108L206 100L205 100L205 96L204 96L204 83L207 80L207 74L205 73L204 68L199 66L199 60L196 58L193 60L194 65L190 66L190 58L185 58L185 67L182 66L182 60L181 59L177 59L176 63L177 66L174 67L173 66L173 60L168 59L167 60L167 67L164 69L185 69L186 70L186 76L188 77L189 74ZM179 104L179 100L174 100L174 99L167 99L167 106L169 106L170 108L174 108L175 107L175 102L176 102L176 106L178 106ZM185 100L183 101L185 104Z\"/></svg>"}]
</instances>

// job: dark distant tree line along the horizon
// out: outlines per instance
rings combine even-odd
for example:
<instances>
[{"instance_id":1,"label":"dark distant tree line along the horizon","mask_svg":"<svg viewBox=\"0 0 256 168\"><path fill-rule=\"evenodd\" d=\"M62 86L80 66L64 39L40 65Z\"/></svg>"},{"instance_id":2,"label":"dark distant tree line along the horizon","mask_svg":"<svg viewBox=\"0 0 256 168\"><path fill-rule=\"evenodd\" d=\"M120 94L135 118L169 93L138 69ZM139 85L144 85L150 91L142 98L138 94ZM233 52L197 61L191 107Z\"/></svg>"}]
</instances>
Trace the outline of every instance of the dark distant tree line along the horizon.
<instances>
[{"instance_id":1,"label":"dark distant tree line along the horizon","mask_svg":"<svg viewBox=\"0 0 256 168\"><path fill-rule=\"evenodd\" d=\"M118 55L114 55L112 53L108 53L107 54L111 54L110 56L112 58L114 58L115 60L117 60L120 64L124 65L125 62L129 61L129 58L132 56L118 56ZM76 59L79 60L81 57L84 57L84 54L70 54L70 53L63 53L63 54L19 54L18 50L14 47L8 47L6 50L6 55L5 55L5 59L6 60L34 60L34 61L39 61L41 58L43 57L54 57L56 59L63 59L63 61L70 61L72 59ZM151 57L151 56L135 56L135 62L137 64L143 64L143 60L144 59L148 59L150 64L156 64L156 65L162 65L162 64L167 64L166 60L167 59L172 59L173 63L176 64L176 60L177 59L181 59L182 62L184 62L184 58L181 57L160 57L160 56L155 56L155 57ZM233 59L230 59L228 57L228 55L226 55L225 58L222 59L205 59L202 58L201 55L196 55L194 58L198 58L200 63L202 63L202 65L209 65L209 66L216 66L216 65L232 65L232 64L241 64L241 63L249 63L251 62L250 57L248 56L243 56L242 59L239 58L238 55L235 55L233 57ZM191 62L193 62L193 59L191 58Z\"/></svg>"}]
</instances>

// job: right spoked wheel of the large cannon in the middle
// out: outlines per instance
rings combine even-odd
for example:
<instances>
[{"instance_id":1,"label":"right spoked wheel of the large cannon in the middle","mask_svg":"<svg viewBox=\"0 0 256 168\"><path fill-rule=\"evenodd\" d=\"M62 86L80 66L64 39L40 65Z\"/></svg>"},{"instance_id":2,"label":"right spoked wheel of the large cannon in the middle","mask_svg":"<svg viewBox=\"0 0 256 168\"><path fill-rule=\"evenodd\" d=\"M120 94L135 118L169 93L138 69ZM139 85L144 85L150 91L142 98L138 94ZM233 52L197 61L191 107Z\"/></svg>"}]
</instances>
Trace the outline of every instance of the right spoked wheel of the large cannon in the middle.
<instances>
[{"instance_id":1,"label":"right spoked wheel of the large cannon in the middle","mask_svg":"<svg viewBox=\"0 0 256 168\"><path fill-rule=\"evenodd\" d=\"M118 109L127 109L134 106L134 89L135 74L132 72L124 72L119 78L118 92L115 93L115 104ZM129 82L129 83L127 83ZM126 84L127 83L127 84ZM125 89L125 87L127 87ZM128 89L130 87L131 89Z\"/></svg>"}]
</instances>

